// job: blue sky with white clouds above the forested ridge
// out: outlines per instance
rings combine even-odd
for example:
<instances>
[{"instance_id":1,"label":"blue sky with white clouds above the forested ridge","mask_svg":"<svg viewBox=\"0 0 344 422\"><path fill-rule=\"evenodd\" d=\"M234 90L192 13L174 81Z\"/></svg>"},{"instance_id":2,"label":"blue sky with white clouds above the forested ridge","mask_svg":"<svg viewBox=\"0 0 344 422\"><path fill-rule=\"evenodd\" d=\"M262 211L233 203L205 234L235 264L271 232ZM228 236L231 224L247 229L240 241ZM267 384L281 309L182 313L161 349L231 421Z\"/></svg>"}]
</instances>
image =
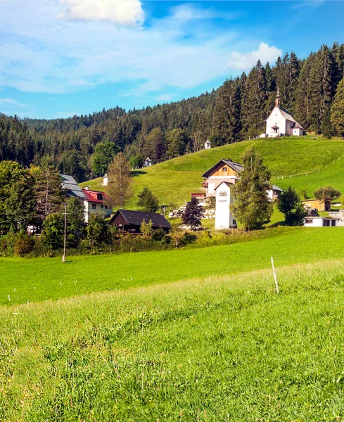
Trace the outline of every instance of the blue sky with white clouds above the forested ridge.
<instances>
[{"instance_id":1,"label":"blue sky with white clouds above the forested ridge","mask_svg":"<svg viewBox=\"0 0 344 422\"><path fill-rule=\"evenodd\" d=\"M343 1L0 0L0 113L179 101L260 59L344 43Z\"/></svg>"}]
</instances>

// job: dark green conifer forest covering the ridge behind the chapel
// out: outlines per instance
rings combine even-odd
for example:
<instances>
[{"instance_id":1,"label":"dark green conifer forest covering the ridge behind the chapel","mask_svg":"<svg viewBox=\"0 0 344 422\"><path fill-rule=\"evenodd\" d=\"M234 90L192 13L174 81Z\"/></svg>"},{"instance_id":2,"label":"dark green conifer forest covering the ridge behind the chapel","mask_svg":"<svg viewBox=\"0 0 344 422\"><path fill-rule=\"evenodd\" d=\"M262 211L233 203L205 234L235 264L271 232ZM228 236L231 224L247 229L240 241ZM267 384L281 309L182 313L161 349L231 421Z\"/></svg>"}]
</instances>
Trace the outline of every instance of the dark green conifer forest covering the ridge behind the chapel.
<instances>
[{"instance_id":1,"label":"dark green conifer forest covering the ridge behind the chapel","mask_svg":"<svg viewBox=\"0 0 344 422\"><path fill-rule=\"evenodd\" d=\"M286 53L274 65L227 79L211 93L126 111L103 110L56 120L0 115L0 160L21 165L49 163L84 181L106 172L122 151L132 167L149 156L159 162L213 146L253 138L265 131L276 88L281 105L308 132L344 136L344 44L321 46L306 59Z\"/></svg>"}]
</instances>

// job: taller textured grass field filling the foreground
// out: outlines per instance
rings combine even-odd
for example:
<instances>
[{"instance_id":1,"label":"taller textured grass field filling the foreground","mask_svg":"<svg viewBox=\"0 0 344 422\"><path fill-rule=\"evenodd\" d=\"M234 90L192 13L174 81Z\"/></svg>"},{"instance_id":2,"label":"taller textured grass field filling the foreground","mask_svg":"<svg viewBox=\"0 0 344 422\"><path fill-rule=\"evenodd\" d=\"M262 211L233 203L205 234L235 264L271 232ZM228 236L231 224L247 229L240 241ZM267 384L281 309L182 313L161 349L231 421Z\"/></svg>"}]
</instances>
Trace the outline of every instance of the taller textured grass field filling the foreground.
<instances>
[{"instance_id":1,"label":"taller textured grass field filling the foreground","mask_svg":"<svg viewBox=\"0 0 344 422\"><path fill-rule=\"evenodd\" d=\"M343 421L343 269L2 307L0 420Z\"/></svg>"}]
</instances>

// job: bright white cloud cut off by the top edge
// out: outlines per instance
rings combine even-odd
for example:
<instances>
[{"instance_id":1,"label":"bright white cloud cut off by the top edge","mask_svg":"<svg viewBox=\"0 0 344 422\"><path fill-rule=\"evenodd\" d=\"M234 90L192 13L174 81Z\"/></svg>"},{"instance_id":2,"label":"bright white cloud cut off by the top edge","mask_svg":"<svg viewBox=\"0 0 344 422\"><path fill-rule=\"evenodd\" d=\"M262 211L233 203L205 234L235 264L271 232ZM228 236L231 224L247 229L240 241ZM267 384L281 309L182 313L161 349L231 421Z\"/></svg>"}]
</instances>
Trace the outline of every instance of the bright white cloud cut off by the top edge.
<instances>
[{"instance_id":1,"label":"bright white cloud cut off by the top edge","mask_svg":"<svg viewBox=\"0 0 344 422\"><path fill-rule=\"evenodd\" d=\"M144 11L139 0L58 0L67 20L108 20L117 25L141 25Z\"/></svg>"}]
</instances>

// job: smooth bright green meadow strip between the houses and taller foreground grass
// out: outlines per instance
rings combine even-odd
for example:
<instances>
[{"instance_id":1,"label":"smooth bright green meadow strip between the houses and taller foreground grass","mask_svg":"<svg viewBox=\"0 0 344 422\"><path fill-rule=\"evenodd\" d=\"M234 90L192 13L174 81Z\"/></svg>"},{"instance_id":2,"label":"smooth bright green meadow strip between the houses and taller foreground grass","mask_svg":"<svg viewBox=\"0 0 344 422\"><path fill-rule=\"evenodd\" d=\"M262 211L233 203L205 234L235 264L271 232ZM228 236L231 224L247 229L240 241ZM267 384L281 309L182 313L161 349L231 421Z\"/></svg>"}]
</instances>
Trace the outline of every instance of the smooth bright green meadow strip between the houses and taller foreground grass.
<instances>
[{"instance_id":1,"label":"smooth bright green meadow strip between the houses and taller foreground grass","mask_svg":"<svg viewBox=\"0 0 344 422\"><path fill-rule=\"evenodd\" d=\"M272 234L272 237L211 248L72 257L67 264L62 264L60 258L2 258L0 304L15 305L264 269L270 266L272 256L277 267L344 257L341 227L282 228Z\"/></svg>"}]
</instances>

